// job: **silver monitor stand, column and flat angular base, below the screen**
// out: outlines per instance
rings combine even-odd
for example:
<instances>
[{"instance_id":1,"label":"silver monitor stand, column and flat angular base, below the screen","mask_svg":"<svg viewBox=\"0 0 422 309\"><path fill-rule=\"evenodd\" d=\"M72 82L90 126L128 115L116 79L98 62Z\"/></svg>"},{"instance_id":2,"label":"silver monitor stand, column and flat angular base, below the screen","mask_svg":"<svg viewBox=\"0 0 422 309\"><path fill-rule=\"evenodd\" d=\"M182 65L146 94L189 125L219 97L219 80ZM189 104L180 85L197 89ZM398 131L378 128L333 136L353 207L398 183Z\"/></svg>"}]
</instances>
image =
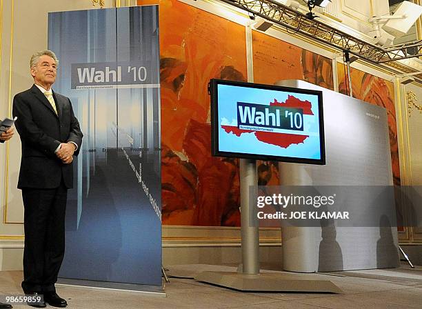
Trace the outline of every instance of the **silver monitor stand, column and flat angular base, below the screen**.
<instances>
[{"instance_id":1,"label":"silver monitor stand, column and flat angular base, below the screen","mask_svg":"<svg viewBox=\"0 0 422 309\"><path fill-rule=\"evenodd\" d=\"M257 189L257 162L240 159L241 250L243 263L237 272L201 272L195 280L243 292L332 292L342 293L330 280L317 275L289 272L259 272L259 221L254 197Z\"/></svg>"}]
</instances>

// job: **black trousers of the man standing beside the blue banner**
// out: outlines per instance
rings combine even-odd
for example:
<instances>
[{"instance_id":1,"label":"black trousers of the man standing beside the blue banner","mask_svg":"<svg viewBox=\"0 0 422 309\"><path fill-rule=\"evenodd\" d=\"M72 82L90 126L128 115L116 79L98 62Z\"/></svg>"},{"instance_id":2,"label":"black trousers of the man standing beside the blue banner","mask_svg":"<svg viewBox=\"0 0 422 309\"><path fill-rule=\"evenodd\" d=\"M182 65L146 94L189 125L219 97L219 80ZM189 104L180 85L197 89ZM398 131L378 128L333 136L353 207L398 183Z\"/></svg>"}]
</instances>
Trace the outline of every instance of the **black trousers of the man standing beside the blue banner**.
<instances>
[{"instance_id":1,"label":"black trousers of the man standing beside the blue banner","mask_svg":"<svg viewBox=\"0 0 422 309\"><path fill-rule=\"evenodd\" d=\"M25 249L23 292L54 292L65 248L68 189L23 188Z\"/></svg>"}]
</instances>

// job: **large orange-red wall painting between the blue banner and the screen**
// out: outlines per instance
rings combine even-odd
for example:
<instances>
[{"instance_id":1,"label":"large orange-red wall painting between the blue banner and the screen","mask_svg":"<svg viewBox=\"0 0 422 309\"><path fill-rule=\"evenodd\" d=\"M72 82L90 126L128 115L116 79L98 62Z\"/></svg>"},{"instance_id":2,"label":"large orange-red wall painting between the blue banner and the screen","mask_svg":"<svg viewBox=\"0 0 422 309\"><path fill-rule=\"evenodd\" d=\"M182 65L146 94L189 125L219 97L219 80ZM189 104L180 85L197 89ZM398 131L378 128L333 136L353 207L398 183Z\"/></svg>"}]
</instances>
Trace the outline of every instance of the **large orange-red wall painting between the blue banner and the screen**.
<instances>
[{"instance_id":1,"label":"large orange-red wall painting between the blue banner and the screen","mask_svg":"<svg viewBox=\"0 0 422 309\"><path fill-rule=\"evenodd\" d=\"M163 224L240 226L239 163L211 156L212 78L246 81L245 28L159 3Z\"/></svg>"}]
</instances>

